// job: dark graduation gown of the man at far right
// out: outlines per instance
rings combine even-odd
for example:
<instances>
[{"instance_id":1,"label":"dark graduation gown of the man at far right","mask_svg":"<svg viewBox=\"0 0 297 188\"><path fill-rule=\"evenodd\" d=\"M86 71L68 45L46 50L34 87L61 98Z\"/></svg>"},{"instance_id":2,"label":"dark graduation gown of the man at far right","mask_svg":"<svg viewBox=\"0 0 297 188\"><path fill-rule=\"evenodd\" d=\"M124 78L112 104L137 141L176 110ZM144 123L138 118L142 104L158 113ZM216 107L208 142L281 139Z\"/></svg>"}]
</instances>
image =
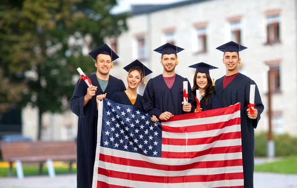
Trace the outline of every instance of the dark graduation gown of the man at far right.
<instances>
[{"instance_id":1,"label":"dark graduation gown of the man at far right","mask_svg":"<svg viewBox=\"0 0 297 188\"><path fill-rule=\"evenodd\" d=\"M239 73L225 88L223 88L223 77L216 80L215 92L223 107L241 103L241 134L242 134L242 155L244 168L245 188L253 188L254 171L254 128L261 118L264 106L260 93L256 85L255 108L258 110L257 119L251 120L247 117L247 105L249 104L250 84L255 84L253 80L244 74Z\"/></svg>"}]
</instances>

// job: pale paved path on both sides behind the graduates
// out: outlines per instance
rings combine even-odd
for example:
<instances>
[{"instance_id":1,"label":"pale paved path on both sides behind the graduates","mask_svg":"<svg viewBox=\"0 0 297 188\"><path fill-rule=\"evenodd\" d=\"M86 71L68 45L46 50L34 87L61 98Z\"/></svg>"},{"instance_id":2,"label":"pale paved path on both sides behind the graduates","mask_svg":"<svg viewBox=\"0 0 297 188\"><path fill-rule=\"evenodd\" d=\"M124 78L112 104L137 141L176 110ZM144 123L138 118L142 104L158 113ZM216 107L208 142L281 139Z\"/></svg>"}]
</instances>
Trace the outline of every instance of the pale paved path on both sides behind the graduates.
<instances>
[{"instance_id":1,"label":"pale paved path on both sides behind the graduates","mask_svg":"<svg viewBox=\"0 0 297 188\"><path fill-rule=\"evenodd\" d=\"M76 175L0 178L0 188L76 188ZM297 188L297 175L255 173L254 188Z\"/></svg>"}]
</instances>

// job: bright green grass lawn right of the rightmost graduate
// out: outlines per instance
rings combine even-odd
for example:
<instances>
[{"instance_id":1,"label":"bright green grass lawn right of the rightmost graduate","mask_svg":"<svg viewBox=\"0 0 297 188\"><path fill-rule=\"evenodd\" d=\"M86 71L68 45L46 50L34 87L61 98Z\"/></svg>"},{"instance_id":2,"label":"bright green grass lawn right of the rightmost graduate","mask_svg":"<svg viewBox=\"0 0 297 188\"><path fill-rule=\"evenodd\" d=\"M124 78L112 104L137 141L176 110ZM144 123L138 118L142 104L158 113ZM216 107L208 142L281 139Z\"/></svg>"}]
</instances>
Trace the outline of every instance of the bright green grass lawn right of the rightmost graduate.
<instances>
[{"instance_id":1,"label":"bright green grass lawn right of the rightmost graduate","mask_svg":"<svg viewBox=\"0 0 297 188\"><path fill-rule=\"evenodd\" d=\"M280 161L255 165L255 172L273 172L280 174L297 174L297 156Z\"/></svg>"}]
</instances>

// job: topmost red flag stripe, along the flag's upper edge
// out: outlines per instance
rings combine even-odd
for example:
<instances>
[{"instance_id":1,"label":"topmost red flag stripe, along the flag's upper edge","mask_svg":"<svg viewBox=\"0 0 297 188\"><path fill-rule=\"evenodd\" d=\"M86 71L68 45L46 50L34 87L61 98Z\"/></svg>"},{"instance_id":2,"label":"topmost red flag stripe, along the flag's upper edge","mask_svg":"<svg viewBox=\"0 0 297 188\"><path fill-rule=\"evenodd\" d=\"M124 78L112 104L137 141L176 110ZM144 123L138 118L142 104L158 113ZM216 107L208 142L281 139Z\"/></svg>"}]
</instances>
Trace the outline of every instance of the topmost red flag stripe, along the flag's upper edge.
<instances>
[{"instance_id":1,"label":"topmost red flag stripe, along the flag's upper edge","mask_svg":"<svg viewBox=\"0 0 297 188\"><path fill-rule=\"evenodd\" d=\"M209 118L214 116L223 116L228 114L233 114L234 111L240 110L240 103L234 106L229 106L225 108L219 108L214 110L207 110L207 111L201 111L197 113L190 113L190 114L184 114L179 116L173 116L167 121L162 122L174 122L174 121L180 121L180 120L190 120L190 119L198 119L198 118Z\"/></svg>"}]
</instances>

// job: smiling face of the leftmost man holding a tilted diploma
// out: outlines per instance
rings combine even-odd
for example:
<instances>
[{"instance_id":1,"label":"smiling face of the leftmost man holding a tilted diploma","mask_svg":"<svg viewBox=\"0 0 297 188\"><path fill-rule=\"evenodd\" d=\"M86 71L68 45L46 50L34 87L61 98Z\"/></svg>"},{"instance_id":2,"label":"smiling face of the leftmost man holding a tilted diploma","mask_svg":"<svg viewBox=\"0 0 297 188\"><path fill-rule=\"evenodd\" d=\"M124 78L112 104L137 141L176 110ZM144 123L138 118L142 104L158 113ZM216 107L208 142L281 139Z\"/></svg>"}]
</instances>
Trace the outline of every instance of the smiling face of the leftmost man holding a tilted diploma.
<instances>
[{"instance_id":1,"label":"smiling face of the leftmost man holding a tilted diploma","mask_svg":"<svg viewBox=\"0 0 297 188\"><path fill-rule=\"evenodd\" d=\"M111 67L111 57L106 54L99 54L96 58L95 66L97 67L97 72L99 72L99 74L108 74Z\"/></svg>"}]
</instances>

